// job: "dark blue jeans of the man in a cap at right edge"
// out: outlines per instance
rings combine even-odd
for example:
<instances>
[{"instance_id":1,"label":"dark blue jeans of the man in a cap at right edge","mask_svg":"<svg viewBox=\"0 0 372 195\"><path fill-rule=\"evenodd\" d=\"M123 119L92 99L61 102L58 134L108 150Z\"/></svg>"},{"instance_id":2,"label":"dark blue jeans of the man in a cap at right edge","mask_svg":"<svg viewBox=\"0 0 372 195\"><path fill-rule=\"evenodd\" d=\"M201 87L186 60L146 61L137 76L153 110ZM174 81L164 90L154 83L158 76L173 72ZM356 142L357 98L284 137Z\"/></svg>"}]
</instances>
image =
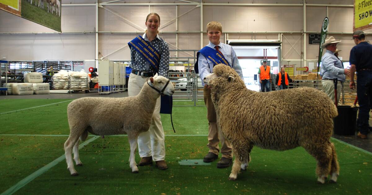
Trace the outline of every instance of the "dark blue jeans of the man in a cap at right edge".
<instances>
[{"instance_id":1,"label":"dark blue jeans of the man in a cap at right edge","mask_svg":"<svg viewBox=\"0 0 372 195\"><path fill-rule=\"evenodd\" d=\"M369 110L372 103L372 72L358 72L356 83L356 94L359 104L358 129L360 133L366 135L369 130Z\"/></svg>"}]
</instances>

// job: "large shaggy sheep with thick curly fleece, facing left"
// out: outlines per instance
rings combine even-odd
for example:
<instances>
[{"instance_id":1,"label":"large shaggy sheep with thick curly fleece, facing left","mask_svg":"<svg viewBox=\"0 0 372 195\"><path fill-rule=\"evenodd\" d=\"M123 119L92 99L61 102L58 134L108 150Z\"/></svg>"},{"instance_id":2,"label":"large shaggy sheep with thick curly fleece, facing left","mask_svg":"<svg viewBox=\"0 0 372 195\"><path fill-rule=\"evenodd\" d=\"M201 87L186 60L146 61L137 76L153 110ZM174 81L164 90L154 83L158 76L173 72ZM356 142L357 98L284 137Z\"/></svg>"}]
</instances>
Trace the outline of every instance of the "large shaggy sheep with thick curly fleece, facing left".
<instances>
[{"instance_id":1,"label":"large shaggy sheep with thick curly fleece, facing left","mask_svg":"<svg viewBox=\"0 0 372 195\"><path fill-rule=\"evenodd\" d=\"M217 124L231 141L235 160L230 180L245 170L254 145L289 150L302 146L317 160L318 183L339 176L336 150L330 137L337 108L324 92L294 88L267 93L248 90L234 69L216 65L204 78L211 87Z\"/></svg>"}]
</instances>

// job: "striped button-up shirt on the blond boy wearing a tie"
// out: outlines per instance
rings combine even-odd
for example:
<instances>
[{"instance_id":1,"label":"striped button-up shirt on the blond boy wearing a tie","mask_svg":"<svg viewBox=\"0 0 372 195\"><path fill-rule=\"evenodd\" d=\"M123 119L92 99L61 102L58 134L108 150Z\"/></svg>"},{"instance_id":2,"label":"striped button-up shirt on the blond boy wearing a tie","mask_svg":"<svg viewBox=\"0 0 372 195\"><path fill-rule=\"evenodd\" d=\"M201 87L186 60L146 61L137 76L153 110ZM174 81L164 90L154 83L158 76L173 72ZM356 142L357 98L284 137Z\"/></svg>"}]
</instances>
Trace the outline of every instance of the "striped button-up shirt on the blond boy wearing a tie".
<instances>
[{"instance_id":1,"label":"striped button-up shirt on the blond boy wearing a tie","mask_svg":"<svg viewBox=\"0 0 372 195\"><path fill-rule=\"evenodd\" d=\"M212 48L212 49L215 49L214 47L216 45L209 42L209 44L207 46ZM236 56L236 53L235 53L234 49L232 49L231 45L227 45L227 44L224 44L224 43L220 42L218 44L218 46L219 46L219 51L224 55L224 57L230 63L232 68L234 68L234 70L238 73L240 78L243 79L243 72L241 71L241 67L240 67L240 64L239 64L239 61L238 61L238 57ZM213 66L215 64L211 60L207 59L205 56L199 55L198 65L199 65L199 76L200 76L200 79L202 80L202 85L204 86L203 79L207 75L213 73Z\"/></svg>"}]
</instances>

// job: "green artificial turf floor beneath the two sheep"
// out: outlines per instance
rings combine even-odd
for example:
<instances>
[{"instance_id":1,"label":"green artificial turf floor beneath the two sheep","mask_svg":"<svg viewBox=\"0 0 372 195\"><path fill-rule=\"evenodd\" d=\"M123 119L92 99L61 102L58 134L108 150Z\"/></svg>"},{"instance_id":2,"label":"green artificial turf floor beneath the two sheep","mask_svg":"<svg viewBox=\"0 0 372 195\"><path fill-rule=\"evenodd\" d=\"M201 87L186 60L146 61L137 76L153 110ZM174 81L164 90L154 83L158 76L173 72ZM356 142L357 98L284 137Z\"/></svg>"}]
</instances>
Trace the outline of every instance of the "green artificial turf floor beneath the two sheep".
<instances>
[{"instance_id":1,"label":"green artificial turf floor beneath the two sheep","mask_svg":"<svg viewBox=\"0 0 372 195\"><path fill-rule=\"evenodd\" d=\"M6 109L11 111L9 107L17 110L63 100L44 100L39 104L36 102L39 100L33 101L12 100ZM68 134L68 103L0 114L0 134ZM0 105L0 113L3 113L2 101ZM41 123L41 116L58 120ZM317 184L315 159L301 147L283 152L254 147L251 163L237 181L228 181L231 167L217 169L217 161L210 165L180 165L185 160L200 161L208 152L207 137L198 136L208 133L206 108L174 106L176 134L171 130L169 115L161 117L169 169L140 166L139 173L131 173L128 138L105 136L80 150L83 166L75 166L80 175L70 176L62 160L15 194L369 194L372 191L372 155L335 139L332 142L340 163L336 184ZM38 119L39 123L32 122ZM1 136L0 193L62 156L66 139L67 136ZM139 160L137 152L136 162Z\"/></svg>"}]
</instances>

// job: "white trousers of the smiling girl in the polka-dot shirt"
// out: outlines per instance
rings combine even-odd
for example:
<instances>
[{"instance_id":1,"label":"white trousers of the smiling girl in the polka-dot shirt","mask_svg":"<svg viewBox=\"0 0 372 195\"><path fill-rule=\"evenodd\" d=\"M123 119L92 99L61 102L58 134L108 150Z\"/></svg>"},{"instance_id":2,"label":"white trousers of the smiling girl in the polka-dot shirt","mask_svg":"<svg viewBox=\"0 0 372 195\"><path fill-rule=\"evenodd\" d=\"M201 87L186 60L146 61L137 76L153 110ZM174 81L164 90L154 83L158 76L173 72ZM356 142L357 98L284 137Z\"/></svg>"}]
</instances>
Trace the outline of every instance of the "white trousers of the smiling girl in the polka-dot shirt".
<instances>
[{"instance_id":1,"label":"white trousers of the smiling girl in the polka-dot shirt","mask_svg":"<svg viewBox=\"0 0 372 195\"><path fill-rule=\"evenodd\" d=\"M142 77L131 73L128 80L128 95L140 93L143 84L150 77ZM153 157L154 161L165 160L164 130L160 118L160 97L156 100L150 129L138 136L138 153L140 157Z\"/></svg>"}]
</instances>

